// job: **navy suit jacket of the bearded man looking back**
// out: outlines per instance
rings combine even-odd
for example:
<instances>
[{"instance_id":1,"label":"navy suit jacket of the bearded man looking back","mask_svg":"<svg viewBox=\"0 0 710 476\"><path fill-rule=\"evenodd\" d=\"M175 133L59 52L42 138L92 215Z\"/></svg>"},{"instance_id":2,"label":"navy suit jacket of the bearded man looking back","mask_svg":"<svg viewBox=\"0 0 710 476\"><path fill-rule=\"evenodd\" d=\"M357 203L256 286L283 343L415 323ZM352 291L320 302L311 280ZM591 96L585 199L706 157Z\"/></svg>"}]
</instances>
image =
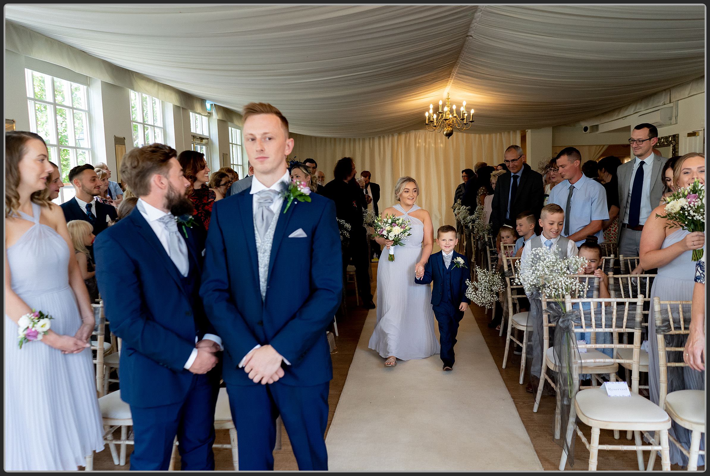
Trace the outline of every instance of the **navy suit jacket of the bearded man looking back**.
<instances>
[{"instance_id":1,"label":"navy suit jacket of the bearded man looking back","mask_svg":"<svg viewBox=\"0 0 710 476\"><path fill-rule=\"evenodd\" d=\"M106 319L123 339L121 400L134 406L184 400L192 383L192 372L184 366L195 337L217 335L197 293L202 256L192 229L186 230L191 266L197 266L194 298L187 296L180 271L138 207L94 241ZM184 237L182 228L180 235Z\"/></svg>"}]
</instances>

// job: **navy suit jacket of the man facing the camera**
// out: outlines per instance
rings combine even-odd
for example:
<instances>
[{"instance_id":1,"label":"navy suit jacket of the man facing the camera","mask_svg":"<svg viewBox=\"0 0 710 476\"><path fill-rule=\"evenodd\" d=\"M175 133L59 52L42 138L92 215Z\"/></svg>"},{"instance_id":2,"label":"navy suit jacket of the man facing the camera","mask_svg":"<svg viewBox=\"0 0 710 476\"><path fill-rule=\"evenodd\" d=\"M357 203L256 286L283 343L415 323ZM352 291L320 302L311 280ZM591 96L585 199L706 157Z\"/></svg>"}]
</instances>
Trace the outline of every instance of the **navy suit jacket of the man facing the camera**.
<instances>
[{"instance_id":1,"label":"navy suit jacket of the man facing the camera","mask_svg":"<svg viewBox=\"0 0 710 476\"><path fill-rule=\"evenodd\" d=\"M266 298L259 291L249 190L214 202L200 295L224 345L224 380L254 384L237 366L256 345L271 345L290 365L279 382L312 386L332 379L326 329L343 288L340 233L332 200L315 193L283 212L271 247ZM275 219L276 217L274 217ZM302 229L305 237L289 237Z\"/></svg>"}]
</instances>

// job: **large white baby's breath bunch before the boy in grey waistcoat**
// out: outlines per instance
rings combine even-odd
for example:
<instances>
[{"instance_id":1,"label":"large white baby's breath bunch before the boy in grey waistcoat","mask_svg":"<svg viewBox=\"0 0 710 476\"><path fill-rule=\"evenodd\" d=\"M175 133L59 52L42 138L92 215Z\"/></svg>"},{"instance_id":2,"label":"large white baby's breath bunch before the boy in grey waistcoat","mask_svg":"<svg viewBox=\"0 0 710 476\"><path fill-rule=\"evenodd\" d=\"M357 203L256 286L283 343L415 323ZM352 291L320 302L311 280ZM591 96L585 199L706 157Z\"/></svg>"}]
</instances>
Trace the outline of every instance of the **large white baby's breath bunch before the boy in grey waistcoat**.
<instances>
[{"instance_id":1,"label":"large white baby's breath bunch before the boy in grey waistcoat","mask_svg":"<svg viewBox=\"0 0 710 476\"><path fill-rule=\"evenodd\" d=\"M557 246L555 246L557 248ZM522 284L525 293L539 291L553 298L564 308L564 296L579 296L586 293L586 284L570 274L579 274L586 259L581 256L560 258L554 249L533 248L527 259L516 263L518 276L516 284Z\"/></svg>"}]
</instances>

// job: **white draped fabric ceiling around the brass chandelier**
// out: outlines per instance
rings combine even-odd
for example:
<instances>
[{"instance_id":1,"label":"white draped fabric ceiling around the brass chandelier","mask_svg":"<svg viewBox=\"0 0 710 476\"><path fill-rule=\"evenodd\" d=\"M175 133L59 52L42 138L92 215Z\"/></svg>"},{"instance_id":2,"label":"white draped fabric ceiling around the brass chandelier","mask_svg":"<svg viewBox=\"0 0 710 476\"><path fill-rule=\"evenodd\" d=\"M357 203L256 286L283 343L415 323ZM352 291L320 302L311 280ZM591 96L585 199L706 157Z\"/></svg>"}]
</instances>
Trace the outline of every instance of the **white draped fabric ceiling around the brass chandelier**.
<instances>
[{"instance_id":1,"label":"white draped fabric ceiling around the brass chandelier","mask_svg":"<svg viewBox=\"0 0 710 476\"><path fill-rule=\"evenodd\" d=\"M701 5L7 5L6 19L236 111L271 102L309 136L422 129L446 92L475 109L471 132L535 129L704 75Z\"/></svg>"}]
</instances>

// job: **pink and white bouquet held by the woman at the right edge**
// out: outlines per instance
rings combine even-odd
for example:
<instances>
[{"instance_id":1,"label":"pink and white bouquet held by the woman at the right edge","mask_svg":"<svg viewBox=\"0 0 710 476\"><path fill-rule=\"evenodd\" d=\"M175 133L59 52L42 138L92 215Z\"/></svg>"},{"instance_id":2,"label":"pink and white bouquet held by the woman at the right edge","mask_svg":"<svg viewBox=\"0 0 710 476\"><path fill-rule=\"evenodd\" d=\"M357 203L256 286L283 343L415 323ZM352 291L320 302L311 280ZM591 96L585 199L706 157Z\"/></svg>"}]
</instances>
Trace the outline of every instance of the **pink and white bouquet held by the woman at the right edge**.
<instances>
[{"instance_id":1,"label":"pink and white bouquet held by the woman at the right edge","mask_svg":"<svg viewBox=\"0 0 710 476\"><path fill-rule=\"evenodd\" d=\"M665 218L678 225L668 225L669 228L680 227L689 232L705 232L705 185L697 179L688 187L680 188L666 199ZM703 249L693 250L693 261L703 257Z\"/></svg>"}]
</instances>

